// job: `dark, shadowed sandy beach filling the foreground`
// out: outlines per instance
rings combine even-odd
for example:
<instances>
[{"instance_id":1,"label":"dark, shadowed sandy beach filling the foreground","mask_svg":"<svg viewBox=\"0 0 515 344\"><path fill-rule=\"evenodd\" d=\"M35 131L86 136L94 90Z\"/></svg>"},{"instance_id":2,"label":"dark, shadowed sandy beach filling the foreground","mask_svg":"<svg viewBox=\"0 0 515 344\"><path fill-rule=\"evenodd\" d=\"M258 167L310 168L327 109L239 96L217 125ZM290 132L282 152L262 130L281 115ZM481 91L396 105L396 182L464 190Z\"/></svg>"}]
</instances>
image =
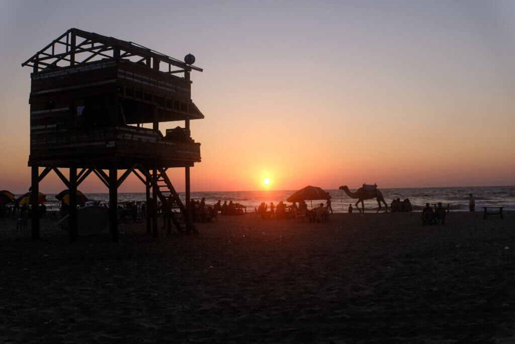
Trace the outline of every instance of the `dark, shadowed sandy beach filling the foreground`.
<instances>
[{"instance_id":1,"label":"dark, shadowed sandy beach filling the foreground","mask_svg":"<svg viewBox=\"0 0 515 344\"><path fill-rule=\"evenodd\" d=\"M4 218L0 342L514 342L514 215L247 214L119 243Z\"/></svg>"}]
</instances>

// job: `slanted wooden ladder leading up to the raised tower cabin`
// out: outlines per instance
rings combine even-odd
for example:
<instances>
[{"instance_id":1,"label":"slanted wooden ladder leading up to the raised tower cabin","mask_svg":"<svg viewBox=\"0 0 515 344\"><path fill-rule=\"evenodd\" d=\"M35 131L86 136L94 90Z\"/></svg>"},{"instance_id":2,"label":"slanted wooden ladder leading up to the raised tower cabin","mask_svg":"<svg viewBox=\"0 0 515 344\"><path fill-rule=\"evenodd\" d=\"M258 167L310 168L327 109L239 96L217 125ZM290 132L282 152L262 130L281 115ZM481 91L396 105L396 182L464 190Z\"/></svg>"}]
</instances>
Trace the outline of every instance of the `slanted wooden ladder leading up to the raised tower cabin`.
<instances>
[{"instance_id":1,"label":"slanted wooden ladder leading up to the raised tower cabin","mask_svg":"<svg viewBox=\"0 0 515 344\"><path fill-rule=\"evenodd\" d=\"M198 234L191 218L187 216L186 208L182 204L179 194L175 191L174 186L166 175L166 170L158 168L156 178L154 178L152 170L145 168L141 164L139 165L139 170L149 179L150 184L157 191L156 193L163 204L164 211L169 215L177 231L185 231L187 234L191 232ZM177 209L179 211L176 211Z\"/></svg>"}]
</instances>

